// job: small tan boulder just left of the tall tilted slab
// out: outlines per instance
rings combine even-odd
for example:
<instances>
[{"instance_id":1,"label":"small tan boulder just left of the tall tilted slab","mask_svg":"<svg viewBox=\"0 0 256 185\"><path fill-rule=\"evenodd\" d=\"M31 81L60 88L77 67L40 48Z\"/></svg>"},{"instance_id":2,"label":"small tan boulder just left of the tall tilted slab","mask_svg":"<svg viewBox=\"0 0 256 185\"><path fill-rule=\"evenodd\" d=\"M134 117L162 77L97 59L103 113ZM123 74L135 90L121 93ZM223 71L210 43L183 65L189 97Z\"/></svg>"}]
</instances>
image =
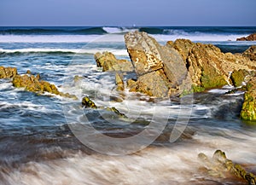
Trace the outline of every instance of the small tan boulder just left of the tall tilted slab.
<instances>
[{"instance_id":1,"label":"small tan boulder just left of the tall tilted slab","mask_svg":"<svg viewBox=\"0 0 256 185\"><path fill-rule=\"evenodd\" d=\"M131 61L118 60L110 52L97 52L94 55L96 65L102 67L102 71L122 71L122 72L132 72L133 66Z\"/></svg>"}]
</instances>

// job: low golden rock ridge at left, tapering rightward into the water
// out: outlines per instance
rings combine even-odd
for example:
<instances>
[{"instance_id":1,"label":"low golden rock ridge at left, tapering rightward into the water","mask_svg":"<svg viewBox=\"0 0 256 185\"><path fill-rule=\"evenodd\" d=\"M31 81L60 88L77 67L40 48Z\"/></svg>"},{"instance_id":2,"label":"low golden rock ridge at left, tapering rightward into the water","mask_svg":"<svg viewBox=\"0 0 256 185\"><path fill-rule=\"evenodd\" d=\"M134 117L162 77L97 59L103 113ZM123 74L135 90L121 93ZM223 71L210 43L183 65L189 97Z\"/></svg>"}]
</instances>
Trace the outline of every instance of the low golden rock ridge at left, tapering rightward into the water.
<instances>
[{"instance_id":1,"label":"low golden rock ridge at left, tapering rightward into the water","mask_svg":"<svg viewBox=\"0 0 256 185\"><path fill-rule=\"evenodd\" d=\"M63 97L73 98L77 99L75 95L70 95L68 93L62 93L60 92L54 84L49 84L49 82L46 82L44 80L38 79L38 76L35 77L34 75L15 75L12 81L13 85L16 88L25 88L27 91L35 92L42 94L44 92L49 92L51 94L55 95L61 95Z\"/></svg>"}]
</instances>

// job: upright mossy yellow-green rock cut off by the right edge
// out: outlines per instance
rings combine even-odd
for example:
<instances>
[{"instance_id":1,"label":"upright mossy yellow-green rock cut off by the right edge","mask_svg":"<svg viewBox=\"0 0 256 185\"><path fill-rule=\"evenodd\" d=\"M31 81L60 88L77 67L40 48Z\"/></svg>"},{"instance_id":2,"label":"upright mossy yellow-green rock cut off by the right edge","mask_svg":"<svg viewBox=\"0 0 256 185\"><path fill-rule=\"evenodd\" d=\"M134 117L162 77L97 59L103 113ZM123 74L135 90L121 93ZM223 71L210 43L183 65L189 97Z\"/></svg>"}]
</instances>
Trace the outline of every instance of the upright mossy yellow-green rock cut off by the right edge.
<instances>
[{"instance_id":1,"label":"upright mossy yellow-green rock cut off by the right edge","mask_svg":"<svg viewBox=\"0 0 256 185\"><path fill-rule=\"evenodd\" d=\"M256 77L247 83L240 115L241 119L256 121Z\"/></svg>"}]
</instances>

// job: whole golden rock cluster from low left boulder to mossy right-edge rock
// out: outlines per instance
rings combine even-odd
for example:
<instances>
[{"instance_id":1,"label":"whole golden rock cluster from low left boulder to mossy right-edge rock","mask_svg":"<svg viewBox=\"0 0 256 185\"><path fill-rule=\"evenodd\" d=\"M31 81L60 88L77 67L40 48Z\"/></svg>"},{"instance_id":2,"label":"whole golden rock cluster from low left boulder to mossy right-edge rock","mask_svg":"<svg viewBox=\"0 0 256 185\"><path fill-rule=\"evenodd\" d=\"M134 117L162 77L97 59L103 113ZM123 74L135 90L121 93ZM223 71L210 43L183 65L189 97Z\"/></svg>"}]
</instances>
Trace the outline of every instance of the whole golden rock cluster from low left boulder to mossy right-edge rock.
<instances>
[{"instance_id":1,"label":"whole golden rock cluster from low left boulder to mossy right-edge rock","mask_svg":"<svg viewBox=\"0 0 256 185\"><path fill-rule=\"evenodd\" d=\"M126 33L125 45L131 62L117 60L109 52L95 55L97 66L102 63L103 71L131 72L132 64L137 78L122 82L122 85L126 85L121 89L168 98L224 85L233 85L240 90L243 87L247 92L241 119L256 120L255 46L242 54L233 55L223 53L212 44L193 43L187 39L160 45L146 32ZM117 84L120 84L120 80Z\"/></svg>"}]
</instances>

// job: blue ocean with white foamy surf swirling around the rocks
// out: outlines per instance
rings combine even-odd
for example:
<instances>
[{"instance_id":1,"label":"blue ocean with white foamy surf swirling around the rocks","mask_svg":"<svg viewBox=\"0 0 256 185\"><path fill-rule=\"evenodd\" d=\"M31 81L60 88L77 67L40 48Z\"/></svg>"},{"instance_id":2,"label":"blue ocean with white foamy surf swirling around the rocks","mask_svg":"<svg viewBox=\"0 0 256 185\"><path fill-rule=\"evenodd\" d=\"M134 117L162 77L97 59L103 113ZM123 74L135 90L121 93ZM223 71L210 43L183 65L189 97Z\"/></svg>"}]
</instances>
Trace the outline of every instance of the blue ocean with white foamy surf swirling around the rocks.
<instances>
[{"instance_id":1,"label":"blue ocean with white foamy surf swirling around the rocks","mask_svg":"<svg viewBox=\"0 0 256 185\"><path fill-rule=\"evenodd\" d=\"M38 95L0 79L1 185L247 184L209 176L197 159L198 153L212 156L221 149L256 173L256 123L239 119L242 92L225 94L233 88L225 86L182 100L152 101L129 90L119 95L114 72L96 67L98 51L129 60L124 34L133 31L148 32L163 44L188 38L231 53L256 44L236 41L256 27L0 27L0 66L39 73L79 98ZM73 80L76 75L82 77L79 83ZM127 72L125 79L134 75ZM127 118L82 108L86 95ZM182 134L176 136L175 129ZM139 137L143 130L147 136Z\"/></svg>"}]
</instances>

